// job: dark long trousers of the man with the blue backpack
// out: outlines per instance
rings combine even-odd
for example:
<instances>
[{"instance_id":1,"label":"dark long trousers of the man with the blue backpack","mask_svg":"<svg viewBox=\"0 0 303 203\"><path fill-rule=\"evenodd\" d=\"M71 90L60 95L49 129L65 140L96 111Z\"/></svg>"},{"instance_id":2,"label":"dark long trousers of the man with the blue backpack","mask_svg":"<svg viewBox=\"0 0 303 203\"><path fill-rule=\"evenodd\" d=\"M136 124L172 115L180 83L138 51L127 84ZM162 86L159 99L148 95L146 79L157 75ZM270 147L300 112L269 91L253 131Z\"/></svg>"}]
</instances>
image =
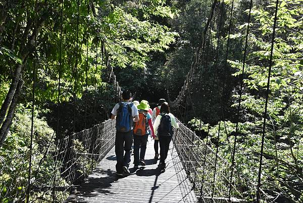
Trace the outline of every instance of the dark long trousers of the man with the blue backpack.
<instances>
[{"instance_id":1,"label":"dark long trousers of the man with the blue backpack","mask_svg":"<svg viewBox=\"0 0 303 203\"><path fill-rule=\"evenodd\" d=\"M132 131L129 131L127 133L116 132L115 152L117 158L117 164L116 164L117 173L123 172L122 170L123 166L129 167L132 143L133 143Z\"/></svg>"}]
</instances>

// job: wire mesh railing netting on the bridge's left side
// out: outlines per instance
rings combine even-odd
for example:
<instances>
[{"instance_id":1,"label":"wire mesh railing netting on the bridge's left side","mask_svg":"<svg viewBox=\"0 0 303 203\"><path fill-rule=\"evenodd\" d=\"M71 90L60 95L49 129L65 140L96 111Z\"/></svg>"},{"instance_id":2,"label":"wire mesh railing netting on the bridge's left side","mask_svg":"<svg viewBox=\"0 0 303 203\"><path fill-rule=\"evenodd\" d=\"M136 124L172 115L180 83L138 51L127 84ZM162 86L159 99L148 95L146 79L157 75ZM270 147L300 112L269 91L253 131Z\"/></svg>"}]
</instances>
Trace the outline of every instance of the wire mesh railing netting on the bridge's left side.
<instances>
[{"instance_id":1,"label":"wire mesh railing netting on the bridge's left side","mask_svg":"<svg viewBox=\"0 0 303 203\"><path fill-rule=\"evenodd\" d=\"M26 160L28 152L14 154L10 160L1 160L0 203L25 202L27 189L29 202L62 202L112 149L115 132L115 120L110 119L90 129L44 143L47 149L43 157L33 155L30 187L26 187L27 180L23 178L28 168L12 168L14 161Z\"/></svg>"}]
</instances>

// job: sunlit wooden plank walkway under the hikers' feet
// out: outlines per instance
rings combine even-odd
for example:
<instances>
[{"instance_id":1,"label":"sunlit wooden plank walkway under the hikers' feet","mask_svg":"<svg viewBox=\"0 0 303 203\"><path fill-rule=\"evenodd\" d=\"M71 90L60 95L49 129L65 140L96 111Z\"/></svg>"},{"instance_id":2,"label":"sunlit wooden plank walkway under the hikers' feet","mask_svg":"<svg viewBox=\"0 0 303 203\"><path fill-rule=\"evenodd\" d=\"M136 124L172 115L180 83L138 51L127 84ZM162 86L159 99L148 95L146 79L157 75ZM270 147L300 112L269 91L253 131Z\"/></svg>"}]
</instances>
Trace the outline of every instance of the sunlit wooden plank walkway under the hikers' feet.
<instances>
[{"instance_id":1,"label":"sunlit wooden plank walkway under the hikers' feet","mask_svg":"<svg viewBox=\"0 0 303 203\"><path fill-rule=\"evenodd\" d=\"M131 175L123 178L115 174L116 156L113 148L65 202L197 202L179 156L172 148L171 143L166 160L168 166L161 173L159 160L154 159L154 141L149 140L145 168L135 170L131 164Z\"/></svg>"}]
</instances>

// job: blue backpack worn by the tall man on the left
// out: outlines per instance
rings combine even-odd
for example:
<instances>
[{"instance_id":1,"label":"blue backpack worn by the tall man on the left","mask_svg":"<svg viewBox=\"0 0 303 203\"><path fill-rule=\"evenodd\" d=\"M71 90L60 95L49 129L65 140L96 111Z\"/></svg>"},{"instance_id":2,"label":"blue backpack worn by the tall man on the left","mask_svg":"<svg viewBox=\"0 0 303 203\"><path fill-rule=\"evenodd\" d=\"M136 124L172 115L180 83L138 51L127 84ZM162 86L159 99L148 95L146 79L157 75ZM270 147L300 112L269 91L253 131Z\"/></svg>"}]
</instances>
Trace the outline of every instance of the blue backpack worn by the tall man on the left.
<instances>
[{"instance_id":1,"label":"blue backpack worn by the tall man on the left","mask_svg":"<svg viewBox=\"0 0 303 203\"><path fill-rule=\"evenodd\" d=\"M116 130L118 132L126 133L129 132L133 125L133 116L131 113L131 107L133 103L127 104L120 102L117 110L116 117Z\"/></svg>"}]
</instances>

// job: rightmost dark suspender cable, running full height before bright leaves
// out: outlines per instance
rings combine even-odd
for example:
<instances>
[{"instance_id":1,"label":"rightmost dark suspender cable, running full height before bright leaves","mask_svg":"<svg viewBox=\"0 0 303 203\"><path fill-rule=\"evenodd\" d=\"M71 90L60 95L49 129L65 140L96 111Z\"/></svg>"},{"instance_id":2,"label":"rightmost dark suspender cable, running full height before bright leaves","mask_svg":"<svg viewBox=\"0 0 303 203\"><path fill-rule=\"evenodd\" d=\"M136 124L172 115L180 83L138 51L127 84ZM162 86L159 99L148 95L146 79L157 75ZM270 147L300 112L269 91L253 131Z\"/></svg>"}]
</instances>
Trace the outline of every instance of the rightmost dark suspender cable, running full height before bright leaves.
<instances>
[{"instance_id":1,"label":"rightmost dark suspender cable, running full height before bright leaves","mask_svg":"<svg viewBox=\"0 0 303 203\"><path fill-rule=\"evenodd\" d=\"M278 5L279 5L279 0L276 1L276 8L275 8L275 18L274 18L274 26L273 26L273 34L272 34L272 42L271 42L271 50L270 50L267 87L266 87L265 109L264 109L264 114L263 114L264 119L263 119L263 129L262 129L260 164L259 164L259 173L258 173L257 203L259 203L260 199L261 199L260 190L261 190L262 159L263 159L263 149L264 149L264 140L265 140L265 131L266 131L266 118L267 118L267 106L268 106L269 89L270 89L270 76L271 76L271 69L272 69L272 65L273 65L273 52L274 52L274 44L275 44L275 32L276 32L276 24L277 24Z\"/></svg>"}]
</instances>

